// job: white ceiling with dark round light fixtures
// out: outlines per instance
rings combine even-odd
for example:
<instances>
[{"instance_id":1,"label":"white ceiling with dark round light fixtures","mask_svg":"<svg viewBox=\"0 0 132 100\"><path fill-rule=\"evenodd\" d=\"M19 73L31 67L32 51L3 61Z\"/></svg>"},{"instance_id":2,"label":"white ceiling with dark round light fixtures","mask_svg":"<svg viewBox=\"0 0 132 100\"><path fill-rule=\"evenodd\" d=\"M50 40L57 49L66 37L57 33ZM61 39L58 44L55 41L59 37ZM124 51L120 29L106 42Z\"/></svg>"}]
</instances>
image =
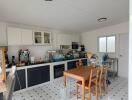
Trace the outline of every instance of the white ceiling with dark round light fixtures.
<instances>
[{"instance_id":1,"label":"white ceiling with dark round light fixtures","mask_svg":"<svg viewBox=\"0 0 132 100\"><path fill-rule=\"evenodd\" d=\"M129 0L0 0L0 19L68 32L128 21ZM98 23L97 19L108 21Z\"/></svg>"}]
</instances>

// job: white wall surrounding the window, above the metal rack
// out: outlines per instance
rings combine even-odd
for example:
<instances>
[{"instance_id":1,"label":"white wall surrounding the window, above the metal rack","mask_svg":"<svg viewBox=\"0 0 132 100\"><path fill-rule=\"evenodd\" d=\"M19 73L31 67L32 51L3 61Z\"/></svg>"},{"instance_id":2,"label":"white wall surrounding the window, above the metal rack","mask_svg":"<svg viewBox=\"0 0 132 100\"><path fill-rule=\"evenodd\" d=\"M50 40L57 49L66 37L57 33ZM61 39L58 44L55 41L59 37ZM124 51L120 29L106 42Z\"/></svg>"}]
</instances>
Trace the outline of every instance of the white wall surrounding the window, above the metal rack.
<instances>
[{"instance_id":1,"label":"white wall surrounding the window, above the metal rack","mask_svg":"<svg viewBox=\"0 0 132 100\"><path fill-rule=\"evenodd\" d=\"M118 57L118 49L119 49L119 34L128 34L129 33L129 23L128 22L124 22L124 23L120 23L117 25L112 25L109 27L104 27L104 28L100 28L100 29L96 29L93 31L89 31L89 32L85 32L81 34L81 43L83 43L86 46L86 50L87 51L91 51L94 53L97 53L99 56L102 57L101 53L98 53L98 41L97 38L99 36L104 36L104 35L112 35L115 34L116 35L116 53L115 54L110 54L110 56L112 57ZM120 66L119 66L120 68ZM122 70L122 69L120 69ZM126 70L127 71L127 70ZM124 73L128 73L128 72L124 72ZM120 76L124 76L124 75L120 75ZM125 76L124 76L125 77Z\"/></svg>"}]
</instances>

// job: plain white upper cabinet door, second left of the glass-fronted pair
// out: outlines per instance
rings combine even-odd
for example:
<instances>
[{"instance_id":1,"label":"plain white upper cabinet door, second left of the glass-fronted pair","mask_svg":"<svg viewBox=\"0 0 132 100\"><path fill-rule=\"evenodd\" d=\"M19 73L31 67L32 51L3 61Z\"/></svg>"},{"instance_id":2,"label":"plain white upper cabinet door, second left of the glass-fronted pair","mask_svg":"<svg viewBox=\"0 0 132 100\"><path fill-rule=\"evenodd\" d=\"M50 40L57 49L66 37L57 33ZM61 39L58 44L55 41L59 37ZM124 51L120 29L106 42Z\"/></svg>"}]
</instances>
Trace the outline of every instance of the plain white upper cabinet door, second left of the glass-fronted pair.
<instances>
[{"instance_id":1,"label":"plain white upper cabinet door, second left of the glass-fronted pair","mask_svg":"<svg viewBox=\"0 0 132 100\"><path fill-rule=\"evenodd\" d=\"M8 45L20 45L21 44L21 29L8 27Z\"/></svg>"}]
</instances>

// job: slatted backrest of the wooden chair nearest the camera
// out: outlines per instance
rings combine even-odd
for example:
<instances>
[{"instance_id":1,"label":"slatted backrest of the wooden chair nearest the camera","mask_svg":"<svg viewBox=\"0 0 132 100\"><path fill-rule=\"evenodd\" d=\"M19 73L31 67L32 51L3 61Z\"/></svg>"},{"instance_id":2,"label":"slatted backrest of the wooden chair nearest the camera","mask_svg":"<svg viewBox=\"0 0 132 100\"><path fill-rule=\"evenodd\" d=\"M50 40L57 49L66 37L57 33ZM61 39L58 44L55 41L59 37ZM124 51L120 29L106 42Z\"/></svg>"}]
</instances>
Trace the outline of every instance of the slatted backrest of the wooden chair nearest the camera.
<instances>
[{"instance_id":1,"label":"slatted backrest of the wooden chair nearest the camera","mask_svg":"<svg viewBox=\"0 0 132 100\"><path fill-rule=\"evenodd\" d=\"M97 84L98 77L99 77L99 70L97 68L92 68L89 78L89 87L91 87L92 82Z\"/></svg>"}]
</instances>

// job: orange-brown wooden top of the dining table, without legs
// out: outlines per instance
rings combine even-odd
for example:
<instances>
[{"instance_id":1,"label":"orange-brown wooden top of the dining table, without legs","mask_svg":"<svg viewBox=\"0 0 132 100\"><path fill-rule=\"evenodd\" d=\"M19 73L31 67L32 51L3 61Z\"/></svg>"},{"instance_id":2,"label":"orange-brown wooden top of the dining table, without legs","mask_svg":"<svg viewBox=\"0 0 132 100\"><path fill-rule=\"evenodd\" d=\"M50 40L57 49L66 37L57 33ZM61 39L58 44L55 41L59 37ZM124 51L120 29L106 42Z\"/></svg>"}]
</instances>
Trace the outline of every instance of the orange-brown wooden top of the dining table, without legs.
<instances>
[{"instance_id":1,"label":"orange-brown wooden top of the dining table, without legs","mask_svg":"<svg viewBox=\"0 0 132 100\"><path fill-rule=\"evenodd\" d=\"M79 80L86 80L89 78L90 71L92 67L82 67L82 68L75 68L71 70L64 71L65 76L69 76Z\"/></svg>"}]
</instances>

